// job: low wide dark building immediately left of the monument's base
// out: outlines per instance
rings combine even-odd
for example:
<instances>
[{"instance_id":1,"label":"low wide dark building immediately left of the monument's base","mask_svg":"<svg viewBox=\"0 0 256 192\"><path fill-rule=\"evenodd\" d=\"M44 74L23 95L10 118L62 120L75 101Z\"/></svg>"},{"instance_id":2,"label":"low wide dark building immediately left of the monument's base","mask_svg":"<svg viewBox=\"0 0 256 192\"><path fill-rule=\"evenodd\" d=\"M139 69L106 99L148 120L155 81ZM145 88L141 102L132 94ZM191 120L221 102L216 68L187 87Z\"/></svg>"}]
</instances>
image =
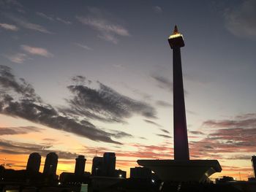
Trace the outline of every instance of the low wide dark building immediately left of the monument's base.
<instances>
[{"instance_id":1,"label":"low wide dark building immediately left of the monument's base","mask_svg":"<svg viewBox=\"0 0 256 192\"><path fill-rule=\"evenodd\" d=\"M141 180L151 180L151 169L146 167L136 166L135 168L130 168L130 178L131 179L141 179Z\"/></svg>"}]
</instances>

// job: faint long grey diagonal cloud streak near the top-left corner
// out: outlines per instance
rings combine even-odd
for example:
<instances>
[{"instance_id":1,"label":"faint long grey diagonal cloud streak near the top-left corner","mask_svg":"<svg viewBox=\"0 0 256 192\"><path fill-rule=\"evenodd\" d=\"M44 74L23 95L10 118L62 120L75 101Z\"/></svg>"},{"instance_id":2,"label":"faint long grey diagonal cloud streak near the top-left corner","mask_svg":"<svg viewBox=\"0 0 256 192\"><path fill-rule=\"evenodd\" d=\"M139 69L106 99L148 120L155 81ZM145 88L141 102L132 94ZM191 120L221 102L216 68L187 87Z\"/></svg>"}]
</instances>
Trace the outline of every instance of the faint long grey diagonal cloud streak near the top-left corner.
<instances>
[{"instance_id":1,"label":"faint long grey diagonal cloud streak near the top-left corner","mask_svg":"<svg viewBox=\"0 0 256 192\"><path fill-rule=\"evenodd\" d=\"M39 31L39 32L44 33L44 34L53 34L52 32L48 31L45 27L40 26L38 24L29 23L29 21L27 21L25 19L17 18L13 15L9 15L9 14L4 14L4 15L7 18L9 18L10 20L14 21L21 28L27 28L27 29L30 29L30 30L33 30L33 31Z\"/></svg>"}]
</instances>

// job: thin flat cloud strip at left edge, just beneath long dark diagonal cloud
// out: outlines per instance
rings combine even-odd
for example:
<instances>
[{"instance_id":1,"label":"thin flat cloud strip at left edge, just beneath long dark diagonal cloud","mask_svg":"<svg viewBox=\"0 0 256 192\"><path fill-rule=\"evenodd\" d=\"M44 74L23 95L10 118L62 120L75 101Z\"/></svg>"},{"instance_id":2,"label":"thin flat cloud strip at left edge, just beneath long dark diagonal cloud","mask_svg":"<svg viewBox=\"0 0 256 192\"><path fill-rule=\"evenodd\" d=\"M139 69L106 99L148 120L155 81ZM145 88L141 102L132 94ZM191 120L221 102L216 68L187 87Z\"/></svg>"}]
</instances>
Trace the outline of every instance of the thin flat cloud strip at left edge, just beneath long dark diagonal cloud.
<instances>
[{"instance_id":1,"label":"thin flat cloud strip at left edge, just beneath long dark diagonal cloud","mask_svg":"<svg viewBox=\"0 0 256 192\"><path fill-rule=\"evenodd\" d=\"M29 134L31 132L41 132L42 130L44 129L35 126L1 127L0 135Z\"/></svg>"}]
</instances>

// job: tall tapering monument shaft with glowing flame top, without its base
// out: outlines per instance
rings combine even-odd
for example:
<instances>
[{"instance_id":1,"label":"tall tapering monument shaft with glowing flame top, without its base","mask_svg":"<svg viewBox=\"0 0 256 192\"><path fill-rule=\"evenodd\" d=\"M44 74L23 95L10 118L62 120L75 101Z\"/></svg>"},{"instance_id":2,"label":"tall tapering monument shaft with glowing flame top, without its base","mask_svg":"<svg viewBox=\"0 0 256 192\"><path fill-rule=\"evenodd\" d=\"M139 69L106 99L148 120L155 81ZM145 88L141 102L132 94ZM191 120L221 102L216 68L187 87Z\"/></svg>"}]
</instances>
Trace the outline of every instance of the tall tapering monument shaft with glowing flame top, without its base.
<instances>
[{"instance_id":1,"label":"tall tapering monument shaft with glowing flame top, without its base","mask_svg":"<svg viewBox=\"0 0 256 192\"><path fill-rule=\"evenodd\" d=\"M184 101L184 88L181 67L181 47L184 47L182 34L175 26L168 42L173 50L173 134L174 160L189 160L189 144L187 139L187 120Z\"/></svg>"}]
</instances>

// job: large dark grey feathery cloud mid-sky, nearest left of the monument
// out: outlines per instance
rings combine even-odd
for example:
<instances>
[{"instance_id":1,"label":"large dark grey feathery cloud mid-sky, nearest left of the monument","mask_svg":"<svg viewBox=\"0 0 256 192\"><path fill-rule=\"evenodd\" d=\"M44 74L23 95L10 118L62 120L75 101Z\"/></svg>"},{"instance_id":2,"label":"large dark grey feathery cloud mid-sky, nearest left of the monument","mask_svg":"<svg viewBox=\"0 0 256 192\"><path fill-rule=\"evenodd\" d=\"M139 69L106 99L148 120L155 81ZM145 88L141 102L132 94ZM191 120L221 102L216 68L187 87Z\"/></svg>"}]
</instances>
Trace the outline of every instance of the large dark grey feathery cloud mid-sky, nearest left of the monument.
<instances>
[{"instance_id":1,"label":"large dark grey feathery cloud mid-sky, nearest left of the monument","mask_svg":"<svg viewBox=\"0 0 256 192\"><path fill-rule=\"evenodd\" d=\"M69 85L68 89L73 96L67 99L69 108L64 108L62 111L69 115L118 123L125 123L126 118L135 114L156 118L156 111L149 104L121 95L101 82L97 82L97 85L99 88L90 88L89 85Z\"/></svg>"}]
</instances>

